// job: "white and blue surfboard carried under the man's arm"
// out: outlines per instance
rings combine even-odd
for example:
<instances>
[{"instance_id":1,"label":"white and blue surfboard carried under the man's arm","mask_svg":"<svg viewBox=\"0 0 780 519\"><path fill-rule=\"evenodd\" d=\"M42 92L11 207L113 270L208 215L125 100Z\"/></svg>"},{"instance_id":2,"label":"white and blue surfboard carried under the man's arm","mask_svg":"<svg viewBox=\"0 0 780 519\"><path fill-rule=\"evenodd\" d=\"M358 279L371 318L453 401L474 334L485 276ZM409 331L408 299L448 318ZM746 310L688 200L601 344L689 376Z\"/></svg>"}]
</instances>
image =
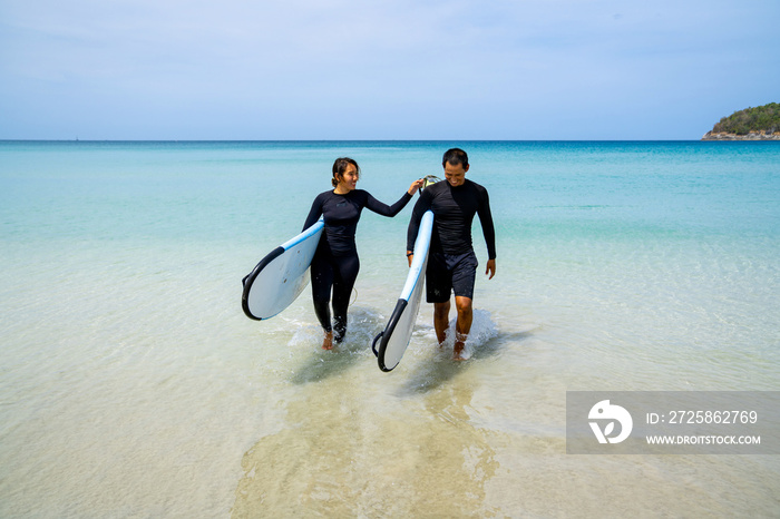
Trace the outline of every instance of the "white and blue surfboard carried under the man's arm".
<instances>
[{"instance_id":1,"label":"white and blue surfboard carried under the man's arm","mask_svg":"<svg viewBox=\"0 0 780 519\"><path fill-rule=\"evenodd\" d=\"M420 228L415 239L415 257L411 261L401 296L396 303L396 309L390 315L390 321L384 331L374 337L371 345L377 355L379 369L382 371L392 371L401 362L403 352L407 351L411 340L417 313L420 310L432 232L433 213L428 210L420 221ZM377 346L377 342L379 342L379 346Z\"/></svg>"}]
</instances>

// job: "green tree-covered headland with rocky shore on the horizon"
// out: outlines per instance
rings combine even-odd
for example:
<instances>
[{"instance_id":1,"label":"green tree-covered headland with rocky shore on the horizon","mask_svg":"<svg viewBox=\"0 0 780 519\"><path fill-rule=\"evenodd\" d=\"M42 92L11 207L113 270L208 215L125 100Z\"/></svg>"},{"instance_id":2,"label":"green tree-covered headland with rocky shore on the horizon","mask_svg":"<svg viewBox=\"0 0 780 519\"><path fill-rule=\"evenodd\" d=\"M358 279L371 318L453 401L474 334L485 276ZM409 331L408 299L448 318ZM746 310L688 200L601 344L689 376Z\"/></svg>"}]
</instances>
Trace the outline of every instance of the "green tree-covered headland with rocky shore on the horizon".
<instances>
[{"instance_id":1,"label":"green tree-covered headland with rocky shore on the horizon","mask_svg":"<svg viewBox=\"0 0 780 519\"><path fill-rule=\"evenodd\" d=\"M780 140L780 104L745 108L723 117L702 140Z\"/></svg>"}]
</instances>

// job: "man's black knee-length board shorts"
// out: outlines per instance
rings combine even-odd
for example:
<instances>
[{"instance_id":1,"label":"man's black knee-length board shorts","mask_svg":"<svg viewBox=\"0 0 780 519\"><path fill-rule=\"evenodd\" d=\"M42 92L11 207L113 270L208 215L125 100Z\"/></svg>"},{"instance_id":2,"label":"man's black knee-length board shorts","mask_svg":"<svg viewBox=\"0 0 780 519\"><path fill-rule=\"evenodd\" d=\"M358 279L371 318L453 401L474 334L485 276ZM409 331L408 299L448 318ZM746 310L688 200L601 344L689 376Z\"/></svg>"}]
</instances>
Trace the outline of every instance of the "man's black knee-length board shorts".
<instances>
[{"instance_id":1,"label":"man's black knee-length board shorts","mask_svg":"<svg viewBox=\"0 0 780 519\"><path fill-rule=\"evenodd\" d=\"M431 253L426 270L426 301L446 303L450 294L474 298L474 283L477 278L477 255Z\"/></svg>"}]
</instances>

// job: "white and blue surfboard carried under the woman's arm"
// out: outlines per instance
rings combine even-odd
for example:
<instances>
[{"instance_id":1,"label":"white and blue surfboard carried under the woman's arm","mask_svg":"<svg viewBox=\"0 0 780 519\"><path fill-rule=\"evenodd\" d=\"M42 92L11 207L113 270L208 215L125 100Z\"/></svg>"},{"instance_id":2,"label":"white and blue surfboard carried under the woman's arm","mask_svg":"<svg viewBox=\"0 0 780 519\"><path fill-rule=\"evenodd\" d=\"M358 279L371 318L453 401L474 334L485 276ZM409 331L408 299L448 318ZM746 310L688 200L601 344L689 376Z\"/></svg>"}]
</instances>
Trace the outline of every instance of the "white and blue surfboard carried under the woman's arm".
<instances>
[{"instance_id":1,"label":"white and blue surfboard carried under the woman's arm","mask_svg":"<svg viewBox=\"0 0 780 519\"><path fill-rule=\"evenodd\" d=\"M244 277L241 305L247 317L257 321L273 317L303 292L324 226L319 221L274 248Z\"/></svg>"}]
</instances>

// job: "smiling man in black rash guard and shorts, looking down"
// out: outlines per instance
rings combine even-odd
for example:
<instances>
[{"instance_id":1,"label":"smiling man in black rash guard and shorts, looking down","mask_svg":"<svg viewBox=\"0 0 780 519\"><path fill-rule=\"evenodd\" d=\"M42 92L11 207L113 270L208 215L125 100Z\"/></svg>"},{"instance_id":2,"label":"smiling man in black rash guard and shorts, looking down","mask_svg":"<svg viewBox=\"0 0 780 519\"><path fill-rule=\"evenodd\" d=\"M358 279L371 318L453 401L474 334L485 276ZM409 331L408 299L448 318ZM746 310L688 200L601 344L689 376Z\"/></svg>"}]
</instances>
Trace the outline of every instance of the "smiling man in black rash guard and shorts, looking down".
<instances>
[{"instance_id":1,"label":"smiling man in black rash guard and shorts, looking down","mask_svg":"<svg viewBox=\"0 0 780 519\"><path fill-rule=\"evenodd\" d=\"M433 234L426 271L426 298L433 303L433 327L441 346L449 326L450 294L455 293L458 320L454 359L461 361L474 319L471 300L478 265L471 244L474 215L479 215L487 244L485 274L489 280L496 274L496 232L487 189L466 179L469 169L466 151L459 148L447 150L441 165L446 182L427 187L415 205L407 234L407 257L411 265L420 219L428 209L432 210Z\"/></svg>"}]
</instances>

